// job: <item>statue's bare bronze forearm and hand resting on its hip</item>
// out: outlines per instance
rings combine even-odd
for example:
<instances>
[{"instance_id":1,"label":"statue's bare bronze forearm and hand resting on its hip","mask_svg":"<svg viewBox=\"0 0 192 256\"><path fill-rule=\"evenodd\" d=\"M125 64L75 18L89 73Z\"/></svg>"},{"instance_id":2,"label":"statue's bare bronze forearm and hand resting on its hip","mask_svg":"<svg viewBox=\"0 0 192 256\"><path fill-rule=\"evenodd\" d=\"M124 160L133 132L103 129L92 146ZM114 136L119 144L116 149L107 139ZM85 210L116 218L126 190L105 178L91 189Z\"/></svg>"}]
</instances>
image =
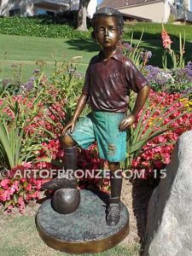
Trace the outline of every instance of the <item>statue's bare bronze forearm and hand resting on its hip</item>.
<instances>
[{"instance_id":1,"label":"statue's bare bronze forearm and hand resting on its hip","mask_svg":"<svg viewBox=\"0 0 192 256\"><path fill-rule=\"evenodd\" d=\"M139 111L143 108L144 103L146 102L148 98L148 94L150 91L149 85L145 85L141 90L138 91L137 93L137 99L135 106L132 110L132 113L130 113L119 125L119 130L123 131L129 126L131 126L135 121L137 114Z\"/></svg>"}]
</instances>

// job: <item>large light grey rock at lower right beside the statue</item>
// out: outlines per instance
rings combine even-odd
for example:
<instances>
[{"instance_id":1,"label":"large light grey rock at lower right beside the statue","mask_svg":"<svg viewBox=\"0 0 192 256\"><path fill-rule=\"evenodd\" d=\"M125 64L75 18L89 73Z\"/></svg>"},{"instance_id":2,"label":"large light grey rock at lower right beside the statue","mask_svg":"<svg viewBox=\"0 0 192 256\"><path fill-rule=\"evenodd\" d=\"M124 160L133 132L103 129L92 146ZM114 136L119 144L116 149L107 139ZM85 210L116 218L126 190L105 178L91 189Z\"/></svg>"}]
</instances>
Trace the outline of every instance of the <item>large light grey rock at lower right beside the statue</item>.
<instances>
[{"instance_id":1,"label":"large light grey rock at lower right beside the statue","mask_svg":"<svg viewBox=\"0 0 192 256\"><path fill-rule=\"evenodd\" d=\"M148 203L143 256L191 256L191 237L192 131L187 131Z\"/></svg>"}]
</instances>

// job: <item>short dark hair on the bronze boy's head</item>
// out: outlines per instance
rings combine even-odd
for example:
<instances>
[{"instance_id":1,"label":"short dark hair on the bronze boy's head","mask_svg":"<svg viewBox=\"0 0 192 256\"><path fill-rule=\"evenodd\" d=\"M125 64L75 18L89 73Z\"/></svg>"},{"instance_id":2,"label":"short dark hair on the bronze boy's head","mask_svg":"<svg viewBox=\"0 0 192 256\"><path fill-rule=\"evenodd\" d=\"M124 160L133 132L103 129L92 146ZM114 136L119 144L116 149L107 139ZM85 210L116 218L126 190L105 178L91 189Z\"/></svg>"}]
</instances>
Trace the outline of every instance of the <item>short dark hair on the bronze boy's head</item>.
<instances>
[{"instance_id":1,"label":"short dark hair on the bronze boy's head","mask_svg":"<svg viewBox=\"0 0 192 256\"><path fill-rule=\"evenodd\" d=\"M109 8L109 7L103 7L103 8L97 9L96 13L93 15L93 18L92 18L93 29L95 29L96 18L99 16L114 16L114 17L116 17L116 19L118 21L119 31L121 33L123 33L124 19L123 19L123 16L121 15L121 13L117 9L113 9L113 8Z\"/></svg>"}]
</instances>

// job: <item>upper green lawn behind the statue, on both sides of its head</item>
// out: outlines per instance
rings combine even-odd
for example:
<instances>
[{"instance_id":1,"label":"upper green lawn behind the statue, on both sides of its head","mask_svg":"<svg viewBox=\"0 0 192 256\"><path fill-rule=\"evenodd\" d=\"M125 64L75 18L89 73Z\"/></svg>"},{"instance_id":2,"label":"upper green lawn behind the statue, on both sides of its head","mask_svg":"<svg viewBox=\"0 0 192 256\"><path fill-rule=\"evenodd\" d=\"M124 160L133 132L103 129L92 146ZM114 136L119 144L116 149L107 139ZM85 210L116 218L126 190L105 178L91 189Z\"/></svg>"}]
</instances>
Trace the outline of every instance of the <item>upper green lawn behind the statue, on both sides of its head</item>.
<instances>
[{"instance_id":1,"label":"upper green lawn behind the statue, on both sides of its head","mask_svg":"<svg viewBox=\"0 0 192 256\"><path fill-rule=\"evenodd\" d=\"M126 39L129 42L129 39ZM138 40L134 40L135 43ZM161 67L163 48L160 39L143 38L141 46L151 50L152 59L148 64ZM178 41L173 44L178 49ZM32 71L37 67L36 61L45 61L45 73L54 71L54 61L70 60L73 56L82 56L78 64L78 71L85 73L86 67L99 46L91 39L63 39L63 38L32 38L27 36L13 36L0 34L0 78L13 78L15 70L21 69L21 80L27 81ZM192 59L192 43L185 45L186 61Z\"/></svg>"}]
</instances>

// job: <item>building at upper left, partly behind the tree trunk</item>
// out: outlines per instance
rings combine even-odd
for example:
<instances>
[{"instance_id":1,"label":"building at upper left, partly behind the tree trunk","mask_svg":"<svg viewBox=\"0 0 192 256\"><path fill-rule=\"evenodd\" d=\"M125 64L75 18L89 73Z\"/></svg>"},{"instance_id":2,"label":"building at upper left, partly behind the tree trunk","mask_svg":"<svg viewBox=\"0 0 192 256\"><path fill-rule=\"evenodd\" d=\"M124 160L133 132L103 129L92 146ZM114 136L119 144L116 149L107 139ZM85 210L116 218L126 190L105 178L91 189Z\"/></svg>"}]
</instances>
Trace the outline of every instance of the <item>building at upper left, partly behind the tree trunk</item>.
<instances>
[{"instance_id":1,"label":"building at upper left, partly behind the tree trunk","mask_svg":"<svg viewBox=\"0 0 192 256\"><path fill-rule=\"evenodd\" d=\"M96 11L96 0L90 0L87 16L92 17ZM78 10L79 0L1 0L0 15L32 16L55 15L64 10Z\"/></svg>"}]
</instances>

